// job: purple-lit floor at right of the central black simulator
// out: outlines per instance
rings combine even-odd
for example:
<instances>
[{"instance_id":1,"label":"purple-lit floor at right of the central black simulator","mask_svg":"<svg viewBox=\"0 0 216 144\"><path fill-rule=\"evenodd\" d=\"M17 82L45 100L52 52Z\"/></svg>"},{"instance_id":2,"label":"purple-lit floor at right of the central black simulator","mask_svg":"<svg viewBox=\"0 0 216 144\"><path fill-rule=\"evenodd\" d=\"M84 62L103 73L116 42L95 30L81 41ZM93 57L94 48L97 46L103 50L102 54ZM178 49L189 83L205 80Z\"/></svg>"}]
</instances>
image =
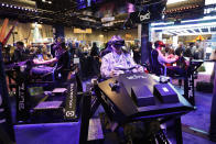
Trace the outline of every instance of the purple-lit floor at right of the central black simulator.
<instances>
[{"instance_id":1,"label":"purple-lit floor at right of the central black simulator","mask_svg":"<svg viewBox=\"0 0 216 144\"><path fill-rule=\"evenodd\" d=\"M183 89L175 86L180 93L183 93ZM210 108L212 108L213 93L205 93L195 91L196 110L182 117L182 124L188 125L196 131L208 133L210 124ZM203 139L194 134L183 132L184 144L216 144L208 139Z\"/></svg>"}]
</instances>

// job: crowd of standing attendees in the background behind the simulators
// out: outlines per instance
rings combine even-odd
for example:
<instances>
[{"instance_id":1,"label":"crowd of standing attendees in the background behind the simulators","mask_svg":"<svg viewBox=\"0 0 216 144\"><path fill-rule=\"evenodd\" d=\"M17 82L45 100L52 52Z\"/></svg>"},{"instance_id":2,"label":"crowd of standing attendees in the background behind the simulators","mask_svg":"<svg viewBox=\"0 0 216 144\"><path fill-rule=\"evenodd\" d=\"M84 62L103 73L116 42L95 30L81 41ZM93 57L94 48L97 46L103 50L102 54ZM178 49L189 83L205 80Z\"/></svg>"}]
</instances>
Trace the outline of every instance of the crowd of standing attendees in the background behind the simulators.
<instances>
[{"instance_id":1,"label":"crowd of standing attendees in the background behind the simulators","mask_svg":"<svg viewBox=\"0 0 216 144\"><path fill-rule=\"evenodd\" d=\"M43 45L26 45L24 46L23 42L17 42L15 46L7 46L3 49L4 62L6 63L18 63L25 60L28 58L37 59L37 60L50 60L55 57L56 53L54 46L57 43L63 43L65 49L71 56L78 57L80 62L80 75L83 78L88 78L91 76L100 75L100 64L101 57L110 52L108 43L105 43L102 47L99 47L97 43L93 43L91 46L88 44L82 44L76 42L65 43L63 37L60 37L53 44L43 44ZM140 43L134 45L125 45L122 47L125 51L131 54L133 60L137 64L141 63L141 48ZM208 59L213 48L210 45L207 47L202 47L199 43L190 43L184 45L180 43L176 48L171 44L166 44L162 49L164 56L168 55L177 55L185 57L193 57L194 59Z\"/></svg>"}]
</instances>

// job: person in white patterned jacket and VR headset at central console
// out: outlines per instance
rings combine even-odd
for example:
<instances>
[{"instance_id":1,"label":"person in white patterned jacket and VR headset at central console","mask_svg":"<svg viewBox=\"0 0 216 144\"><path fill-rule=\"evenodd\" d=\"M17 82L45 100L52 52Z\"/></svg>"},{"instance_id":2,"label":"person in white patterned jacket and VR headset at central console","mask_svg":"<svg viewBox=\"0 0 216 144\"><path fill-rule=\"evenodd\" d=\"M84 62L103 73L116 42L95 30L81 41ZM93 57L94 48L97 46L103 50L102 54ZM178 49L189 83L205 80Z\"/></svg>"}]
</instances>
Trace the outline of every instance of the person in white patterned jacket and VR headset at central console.
<instances>
[{"instance_id":1,"label":"person in white patterned jacket and VR headset at central console","mask_svg":"<svg viewBox=\"0 0 216 144\"><path fill-rule=\"evenodd\" d=\"M100 67L102 77L119 76L126 73L123 69L131 69L132 73L143 71L143 68L134 63L130 54L122 49L125 41L120 36L114 35L108 44L111 52L102 57Z\"/></svg>"}]
</instances>

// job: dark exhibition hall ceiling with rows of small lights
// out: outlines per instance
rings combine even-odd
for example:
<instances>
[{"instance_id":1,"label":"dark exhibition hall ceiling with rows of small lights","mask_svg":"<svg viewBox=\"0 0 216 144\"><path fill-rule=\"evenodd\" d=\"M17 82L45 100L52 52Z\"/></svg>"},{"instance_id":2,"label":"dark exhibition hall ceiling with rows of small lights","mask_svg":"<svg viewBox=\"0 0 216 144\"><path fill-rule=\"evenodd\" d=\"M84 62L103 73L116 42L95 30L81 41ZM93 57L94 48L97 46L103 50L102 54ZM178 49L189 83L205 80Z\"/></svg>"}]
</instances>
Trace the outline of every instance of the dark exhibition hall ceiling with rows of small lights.
<instances>
[{"instance_id":1,"label":"dark exhibition hall ceiling with rows of small lights","mask_svg":"<svg viewBox=\"0 0 216 144\"><path fill-rule=\"evenodd\" d=\"M21 22L111 31L137 26L136 23L125 26L130 10L141 10L144 5L164 1L166 0L0 0L0 16ZM180 4L185 5L184 2ZM169 9L173 12L177 11L174 11L176 8L172 4Z\"/></svg>"}]
</instances>

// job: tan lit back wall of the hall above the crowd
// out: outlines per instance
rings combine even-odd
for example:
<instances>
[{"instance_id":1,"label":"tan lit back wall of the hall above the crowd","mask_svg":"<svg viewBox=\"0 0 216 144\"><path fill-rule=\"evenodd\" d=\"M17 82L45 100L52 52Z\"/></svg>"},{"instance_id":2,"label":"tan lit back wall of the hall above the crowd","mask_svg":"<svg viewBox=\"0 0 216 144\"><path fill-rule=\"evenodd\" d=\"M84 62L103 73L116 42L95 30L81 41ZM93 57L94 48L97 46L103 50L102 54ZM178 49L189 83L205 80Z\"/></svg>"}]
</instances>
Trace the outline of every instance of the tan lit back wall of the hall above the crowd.
<instances>
[{"instance_id":1,"label":"tan lit back wall of the hall above the crowd","mask_svg":"<svg viewBox=\"0 0 216 144\"><path fill-rule=\"evenodd\" d=\"M12 27L14 21L9 20L8 26L7 26L7 32L10 31ZM3 24L3 19L0 19L0 27ZM33 42L33 23L21 23L19 22L18 25L15 26L13 32L17 32L18 34L14 34L14 42L22 41L24 43L31 43ZM111 38L112 35L121 35L122 38L126 41L133 41L134 38L138 38L138 30L117 30L117 31L100 31L100 30L93 30L93 33L90 34L77 34L74 33L73 27L64 27L65 32L65 37L71 37L71 38L76 38L78 41L100 41L100 42L107 42ZM40 33L41 36L44 37L53 37L53 27L52 25L46 25L46 24L40 24ZM10 36L8 44L13 43L13 35Z\"/></svg>"}]
</instances>

